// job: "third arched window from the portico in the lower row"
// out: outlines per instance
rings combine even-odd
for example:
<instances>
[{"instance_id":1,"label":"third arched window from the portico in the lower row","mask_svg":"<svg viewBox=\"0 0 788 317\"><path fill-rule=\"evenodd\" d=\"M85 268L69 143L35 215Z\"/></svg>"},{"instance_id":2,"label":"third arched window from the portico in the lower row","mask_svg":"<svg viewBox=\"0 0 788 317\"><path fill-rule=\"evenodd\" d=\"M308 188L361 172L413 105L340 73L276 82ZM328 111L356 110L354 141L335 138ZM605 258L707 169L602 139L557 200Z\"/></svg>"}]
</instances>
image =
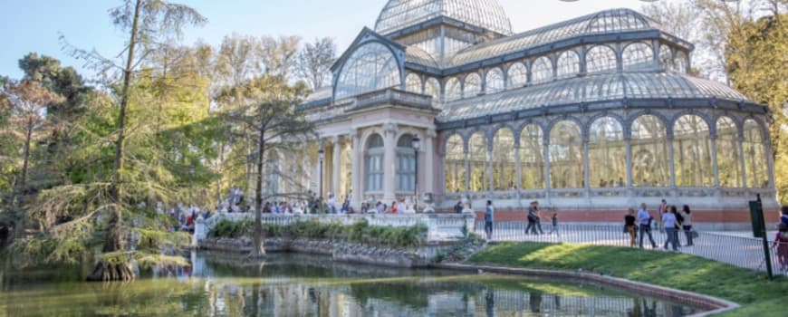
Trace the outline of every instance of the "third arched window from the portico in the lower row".
<instances>
[{"instance_id":1,"label":"third arched window from the portico in the lower row","mask_svg":"<svg viewBox=\"0 0 788 317\"><path fill-rule=\"evenodd\" d=\"M508 128L495 132L493 138L493 189L509 190L517 186L514 159L514 133Z\"/></svg>"}]
</instances>

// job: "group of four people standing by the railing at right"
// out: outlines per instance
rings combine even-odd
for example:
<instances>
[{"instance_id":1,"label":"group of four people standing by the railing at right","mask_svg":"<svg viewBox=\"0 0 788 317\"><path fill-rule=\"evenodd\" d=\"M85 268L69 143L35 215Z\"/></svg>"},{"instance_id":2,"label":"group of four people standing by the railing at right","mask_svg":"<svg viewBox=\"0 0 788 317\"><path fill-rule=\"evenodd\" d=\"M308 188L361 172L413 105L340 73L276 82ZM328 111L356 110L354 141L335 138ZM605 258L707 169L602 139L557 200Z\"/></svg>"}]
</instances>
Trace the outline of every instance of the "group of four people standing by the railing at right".
<instances>
[{"instance_id":1,"label":"group of four people standing by the railing at right","mask_svg":"<svg viewBox=\"0 0 788 317\"><path fill-rule=\"evenodd\" d=\"M635 209L629 208L627 215L624 216L624 232L629 233L629 246L639 245L640 248L643 248L643 238L648 236L651 247L657 248L654 237L651 235L651 227L655 223L658 229L667 235L665 245L662 246L664 249L668 250L668 245L670 245L673 251L678 250L678 247L681 245L678 233L681 231L684 231L684 234L687 236L687 244L685 246L694 245L692 239L697 233L692 229L692 211L689 206L684 205L679 211L675 205L668 206L668 202L662 199L658 212L659 220L651 216L645 203L640 204L637 216L635 216ZM637 235L640 235L639 243L636 240Z\"/></svg>"}]
</instances>

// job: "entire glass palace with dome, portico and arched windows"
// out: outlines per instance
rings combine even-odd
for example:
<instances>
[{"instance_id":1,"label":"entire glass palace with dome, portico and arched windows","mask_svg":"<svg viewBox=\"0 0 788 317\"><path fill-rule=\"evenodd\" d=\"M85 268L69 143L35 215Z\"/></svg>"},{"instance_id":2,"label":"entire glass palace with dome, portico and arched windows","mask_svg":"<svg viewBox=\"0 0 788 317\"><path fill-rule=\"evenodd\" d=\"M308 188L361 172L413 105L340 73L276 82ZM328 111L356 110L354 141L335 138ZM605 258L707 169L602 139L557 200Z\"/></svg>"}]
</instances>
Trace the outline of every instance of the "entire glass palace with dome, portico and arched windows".
<instances>
[{"instance_id":1,"label":"entire glass palace with dome, portico and arched windows","mask_svg":"<svg viewBox=\"0 0 788 317\"><path fill-rule=\"evenodd\" d=\"M299 106L321 141L292 163L356 208L418 193L607 222L664 198L739 226L756 194L778 207L770 112L690 74L692 51L629 9L515 34L495 0L390 0Z\"/></svg>"}]
</instances>

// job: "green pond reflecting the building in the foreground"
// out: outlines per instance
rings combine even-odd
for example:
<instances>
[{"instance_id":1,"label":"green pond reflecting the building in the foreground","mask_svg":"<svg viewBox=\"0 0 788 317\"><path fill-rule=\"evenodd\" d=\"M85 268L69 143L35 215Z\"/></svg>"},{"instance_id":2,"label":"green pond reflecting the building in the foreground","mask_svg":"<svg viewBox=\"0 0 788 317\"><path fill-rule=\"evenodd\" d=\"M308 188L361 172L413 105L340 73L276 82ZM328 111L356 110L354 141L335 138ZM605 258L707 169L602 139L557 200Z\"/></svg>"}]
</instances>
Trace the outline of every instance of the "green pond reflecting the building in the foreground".
<instances>
[{"instance_id":1,"label":"green pond reflecting the building in the foreground","mask_svg":"<svg viewBox=\"0 0 788 317\"><path fill-rule=\"evenodd\" d=\"M249 261L193 254L133 283L73 270L0 271L0 316L681 316L697 308L591 283L342 264L311 255ZM6 265L7 267L7 265ZM79 270L76 270L79 271Z\"/></svg>"}]
</instances>

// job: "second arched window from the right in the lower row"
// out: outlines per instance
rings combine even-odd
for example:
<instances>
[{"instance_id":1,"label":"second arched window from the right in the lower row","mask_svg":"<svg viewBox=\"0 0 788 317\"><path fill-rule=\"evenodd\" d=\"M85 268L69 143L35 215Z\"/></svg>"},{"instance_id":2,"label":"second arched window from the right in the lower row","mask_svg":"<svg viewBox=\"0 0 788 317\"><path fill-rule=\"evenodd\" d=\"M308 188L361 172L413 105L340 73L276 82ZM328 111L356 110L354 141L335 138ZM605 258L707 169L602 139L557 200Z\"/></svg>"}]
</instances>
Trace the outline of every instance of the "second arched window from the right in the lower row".
<instances>
[{"instance_id":1,"label":"second arched window from the right in the lower row","mask_svg":"<svg viewBox=\"0 0 788 317\"><path fill-rule=\"evenodd\" d=\"M739 154L739 132L734 120L716 120L716 165L720 187L742 187L742 157Z\"/></svg>"}]
</instances>

